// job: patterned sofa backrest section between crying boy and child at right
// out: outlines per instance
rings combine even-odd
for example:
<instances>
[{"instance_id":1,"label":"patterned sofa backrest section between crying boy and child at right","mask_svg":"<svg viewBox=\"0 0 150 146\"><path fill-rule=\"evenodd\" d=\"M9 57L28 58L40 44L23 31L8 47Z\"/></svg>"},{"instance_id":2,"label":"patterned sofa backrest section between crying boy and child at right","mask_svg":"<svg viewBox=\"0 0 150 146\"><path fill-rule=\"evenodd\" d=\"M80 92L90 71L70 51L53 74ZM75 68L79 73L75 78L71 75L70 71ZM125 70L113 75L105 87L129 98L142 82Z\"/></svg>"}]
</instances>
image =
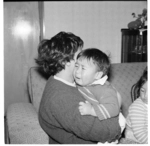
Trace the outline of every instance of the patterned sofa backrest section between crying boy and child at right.
<instances>
[{"instance_id":1,"label":"patterned sofa backrest section between crying boy and child at right","mask_svg":"<svg viewBox=\"0 0 150 146\"><path fill-rule=\"evenodd\" d=\"M122 113L126 117L131 101L131 87L141 77L147 63L112 64L110 82L122 96Z\"/></svg>"}]
</instances>

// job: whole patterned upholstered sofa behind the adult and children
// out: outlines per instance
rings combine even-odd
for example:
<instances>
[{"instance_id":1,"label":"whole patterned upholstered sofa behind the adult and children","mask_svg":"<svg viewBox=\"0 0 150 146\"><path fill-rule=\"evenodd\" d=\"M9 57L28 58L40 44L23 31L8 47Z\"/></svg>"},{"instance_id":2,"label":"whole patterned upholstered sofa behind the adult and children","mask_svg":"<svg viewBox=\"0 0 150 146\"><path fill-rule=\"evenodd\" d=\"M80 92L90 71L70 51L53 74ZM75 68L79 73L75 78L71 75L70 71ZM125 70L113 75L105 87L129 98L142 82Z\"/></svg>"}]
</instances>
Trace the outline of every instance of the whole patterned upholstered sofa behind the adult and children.
<instances>
[{"instance_id":1,"label":"whole patterned upholstered sofa behind the adult and children","mask_svg":"<svg viewBox=\"0 0 150 146\"><path fill-rule=\"evenodd\" d=\"M121 111L126 117L132 103L131 87L138 81L147 62L112 64L109 81L122 96ZM11 104L6 113L7 143L10 144L48 144L49 137L38 121L38 109L48 77L39 68L31 67L27 86L30 103Z\"/></svg>"}]
</instances>

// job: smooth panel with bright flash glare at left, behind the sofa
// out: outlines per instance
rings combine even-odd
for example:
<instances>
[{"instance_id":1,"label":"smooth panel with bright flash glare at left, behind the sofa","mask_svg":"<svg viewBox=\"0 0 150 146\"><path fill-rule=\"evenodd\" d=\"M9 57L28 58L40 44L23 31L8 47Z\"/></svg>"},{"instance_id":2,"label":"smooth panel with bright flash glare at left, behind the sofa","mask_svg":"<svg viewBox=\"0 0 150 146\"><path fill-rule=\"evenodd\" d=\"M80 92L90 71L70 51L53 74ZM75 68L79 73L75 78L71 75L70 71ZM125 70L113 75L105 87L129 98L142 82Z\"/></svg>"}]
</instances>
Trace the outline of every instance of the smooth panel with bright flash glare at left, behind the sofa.
<instances>
[{"instance_id":1,"label":"smooth panel with bright flash glare at left, behind the sofa","mask_svg":"<svg viewBox=\"0 0 150 146\"><path fill-rule=\"evenodd\" d=\"M38 2L4 2L4 102L29 102L27 74L39 43Z\"/></svg>"}]
</instances>

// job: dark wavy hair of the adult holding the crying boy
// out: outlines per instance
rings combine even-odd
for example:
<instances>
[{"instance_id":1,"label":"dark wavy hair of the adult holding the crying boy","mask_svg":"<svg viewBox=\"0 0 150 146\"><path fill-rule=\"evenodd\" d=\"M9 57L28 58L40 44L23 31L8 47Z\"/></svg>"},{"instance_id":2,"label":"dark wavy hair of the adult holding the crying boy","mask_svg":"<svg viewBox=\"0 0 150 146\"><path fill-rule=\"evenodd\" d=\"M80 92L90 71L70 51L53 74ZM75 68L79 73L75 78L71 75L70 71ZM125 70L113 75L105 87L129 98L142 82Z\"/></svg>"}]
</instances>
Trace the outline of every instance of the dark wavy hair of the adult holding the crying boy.
<instances>
[{"instance_id":1,"label":"dark wavy hair of the adult holding the crying boy","mask_svg":"<svg viewBox=\"0 0 150 146\"><path fill-rule=\"evenodd\" d=\"M83 40L73 33L60 32L50 40L42 40L38 46L36 63L49 75L65 69L66 62L74 59L74 54L83 47Z\"/></svg>"}]
</instances>

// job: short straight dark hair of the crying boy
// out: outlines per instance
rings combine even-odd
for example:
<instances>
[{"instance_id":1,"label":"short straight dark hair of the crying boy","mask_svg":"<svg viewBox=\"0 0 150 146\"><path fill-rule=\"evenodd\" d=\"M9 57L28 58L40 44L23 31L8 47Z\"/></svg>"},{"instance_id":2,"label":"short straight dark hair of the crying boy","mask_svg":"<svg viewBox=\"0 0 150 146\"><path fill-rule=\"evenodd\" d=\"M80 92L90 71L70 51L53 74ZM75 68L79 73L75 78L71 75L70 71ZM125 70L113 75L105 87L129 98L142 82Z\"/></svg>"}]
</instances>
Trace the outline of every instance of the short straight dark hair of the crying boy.
<instances>
[{"instance_id":1,"label":"short straight dark hair of the crying boy","mask_svg":"<svg viewBox=\"0 0 150 146\"><path fill-rule=\"evenodd\" d=\"M109 57L101 50L97 48L82 50L77 56L77 59L79 58L85 58L88 60L92 59L93 63L96 63L98 66L99 71L103 72L103 76L108 74L110 69L110 60Z\"/></svg>"}]
</instances>

